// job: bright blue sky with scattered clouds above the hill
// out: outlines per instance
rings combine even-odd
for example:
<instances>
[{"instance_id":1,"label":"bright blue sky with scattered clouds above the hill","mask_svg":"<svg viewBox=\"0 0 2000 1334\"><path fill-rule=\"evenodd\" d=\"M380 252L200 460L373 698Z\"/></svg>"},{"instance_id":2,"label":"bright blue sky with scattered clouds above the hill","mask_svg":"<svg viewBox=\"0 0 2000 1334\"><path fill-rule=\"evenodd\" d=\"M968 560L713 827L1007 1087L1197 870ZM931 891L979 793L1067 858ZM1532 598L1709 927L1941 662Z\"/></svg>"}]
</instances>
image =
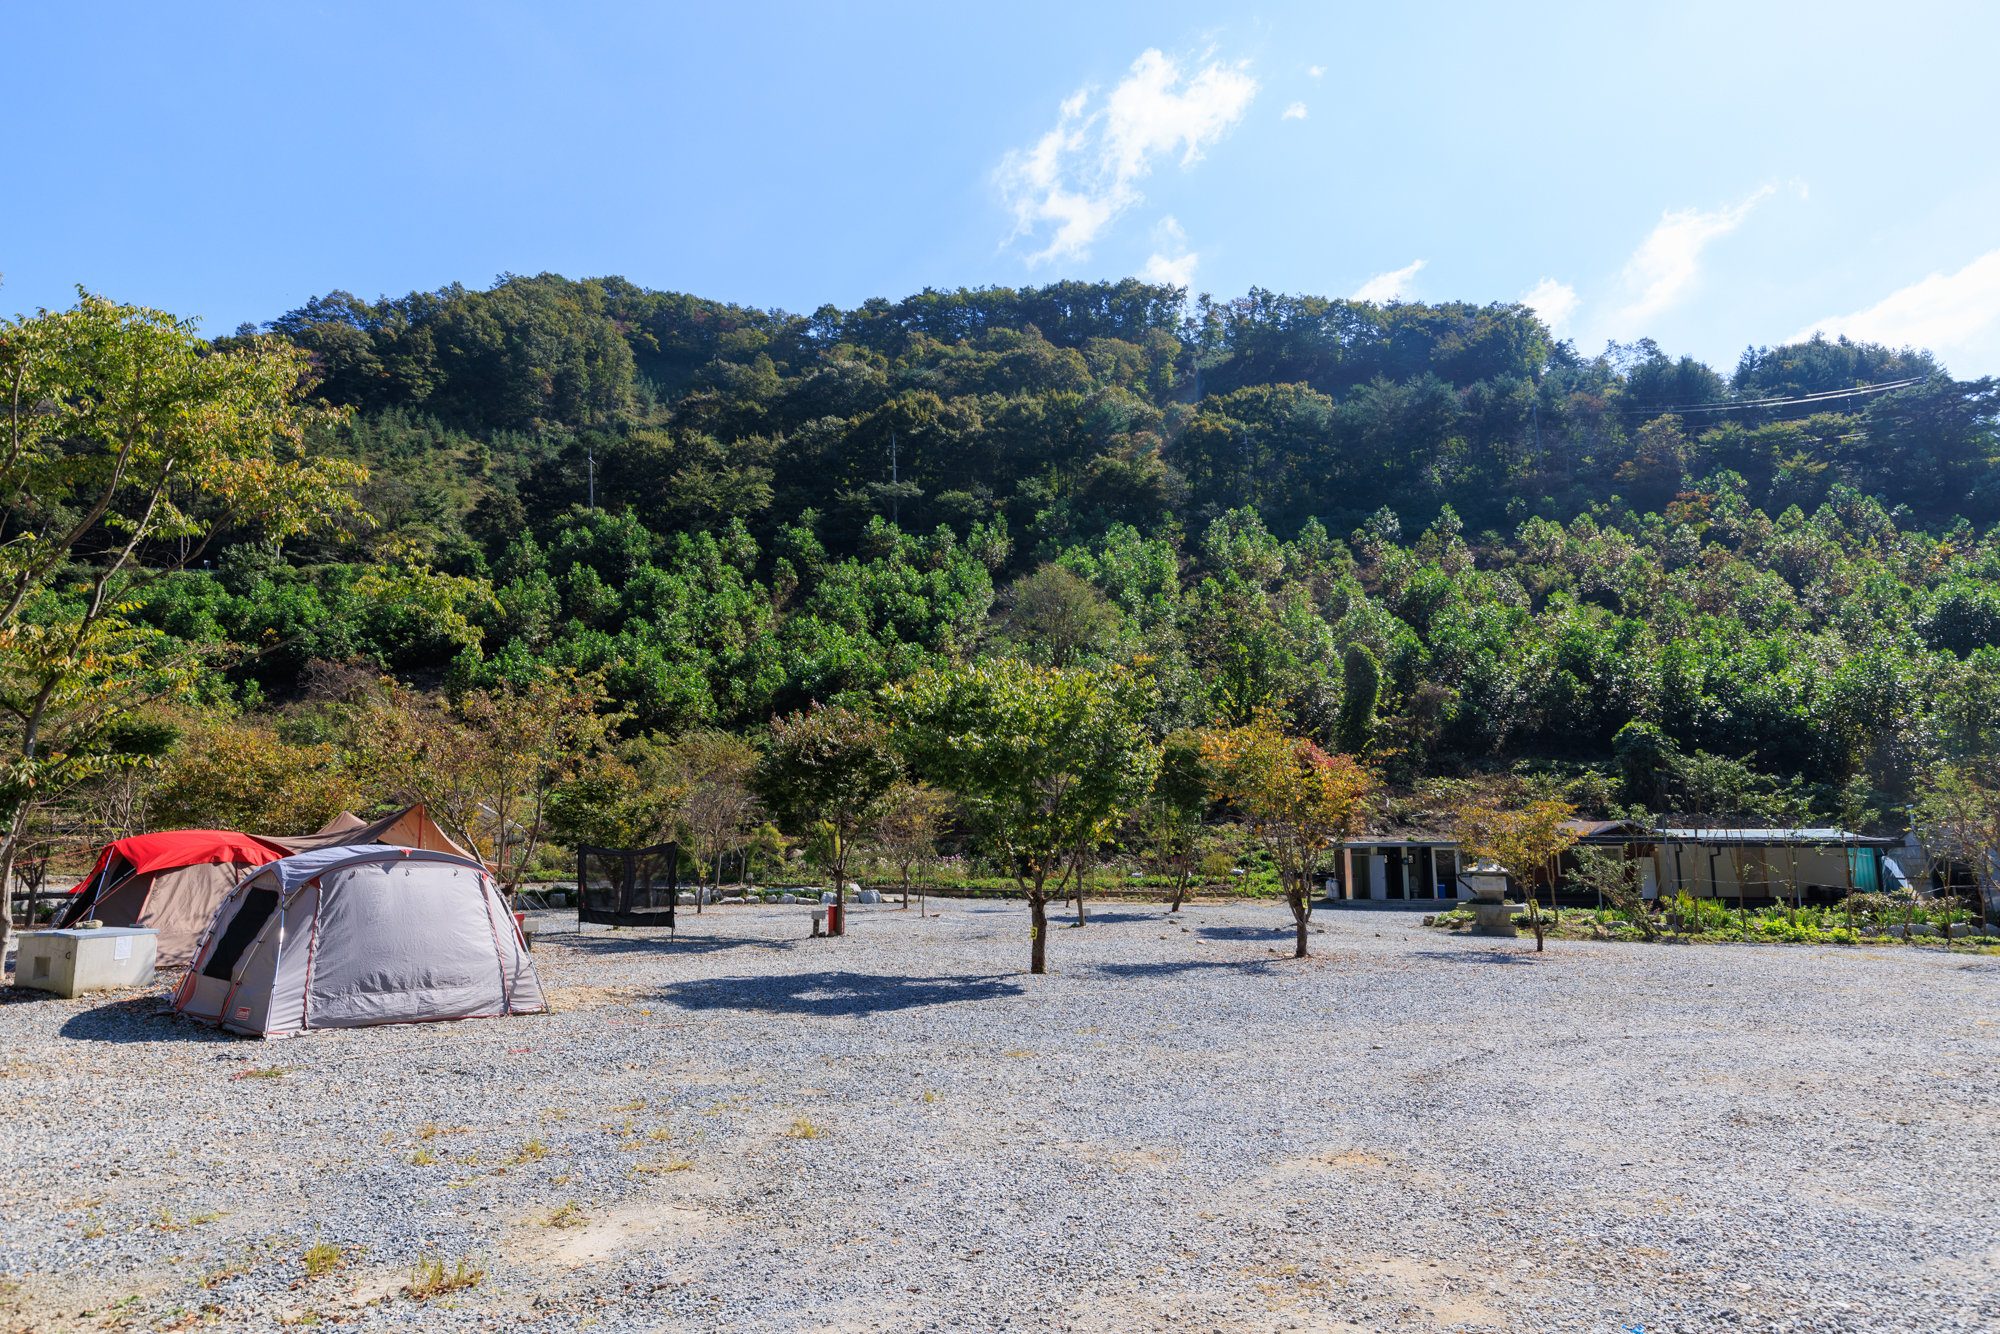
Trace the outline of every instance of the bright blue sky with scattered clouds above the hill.
<instances>
[{"instance_id":1,"label":"bright blue sky with scattered clouds above the hill","mask_svg":"<svg viewBox=\"0 0 2000 1334\"><path fill-rule=\"evenodd\" d=\"M1992 4L16 6L0 312L1170 276L2000 374Z\"/></svg>"}]
</instances>

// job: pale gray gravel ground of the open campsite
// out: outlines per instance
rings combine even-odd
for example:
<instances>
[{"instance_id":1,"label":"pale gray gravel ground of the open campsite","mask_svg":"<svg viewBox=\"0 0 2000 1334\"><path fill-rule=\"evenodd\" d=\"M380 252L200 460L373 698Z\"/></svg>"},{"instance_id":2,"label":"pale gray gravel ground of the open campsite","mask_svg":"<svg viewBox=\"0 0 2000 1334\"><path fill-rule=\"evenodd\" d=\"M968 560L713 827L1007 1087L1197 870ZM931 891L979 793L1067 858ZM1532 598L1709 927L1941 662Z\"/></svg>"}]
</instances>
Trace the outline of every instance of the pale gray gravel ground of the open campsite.
<instances>
[{"instance_id":1,"label":"pale gray gravel ground of the open campsite","mask_svg":"<svg viewBox=\"0 0 2000 1334\"><path fill-rule=\"evenodd\" d=\"M546 912L558 1014L276 1044L4 992L0 1324L2000 1326L2000 958L806 912Z\"/></svg>"}]
</instances>

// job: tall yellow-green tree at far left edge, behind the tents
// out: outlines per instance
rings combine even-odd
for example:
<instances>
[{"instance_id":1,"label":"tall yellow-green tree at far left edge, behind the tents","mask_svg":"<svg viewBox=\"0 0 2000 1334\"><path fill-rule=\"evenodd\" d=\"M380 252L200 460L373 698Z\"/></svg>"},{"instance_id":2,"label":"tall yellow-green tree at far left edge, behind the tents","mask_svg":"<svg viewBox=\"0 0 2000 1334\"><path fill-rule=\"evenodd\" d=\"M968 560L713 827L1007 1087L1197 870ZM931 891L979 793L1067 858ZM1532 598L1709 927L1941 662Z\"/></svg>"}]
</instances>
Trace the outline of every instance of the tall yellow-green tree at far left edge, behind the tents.
<instances>
[{"instance_id":1,"label":"tall yellow-green tree at far left edge, behind the tents","mask_svg":"<svg viewBox=\"0 0 2000 1334\"><path fill-rule=\"evenodd\" d=\"M216 532L286 538L354 512L362 470L308 456L312 366L278 340L216 352L190 320L80 292L0 322L0 884L24 802L98 764L126 706L186 684L128 626L134 590ZM62 706L68 700L68 706ZM86 706L78 706L88 700ZM0 912L0 942L6 914Z\"/></svg>"}]
</instances>

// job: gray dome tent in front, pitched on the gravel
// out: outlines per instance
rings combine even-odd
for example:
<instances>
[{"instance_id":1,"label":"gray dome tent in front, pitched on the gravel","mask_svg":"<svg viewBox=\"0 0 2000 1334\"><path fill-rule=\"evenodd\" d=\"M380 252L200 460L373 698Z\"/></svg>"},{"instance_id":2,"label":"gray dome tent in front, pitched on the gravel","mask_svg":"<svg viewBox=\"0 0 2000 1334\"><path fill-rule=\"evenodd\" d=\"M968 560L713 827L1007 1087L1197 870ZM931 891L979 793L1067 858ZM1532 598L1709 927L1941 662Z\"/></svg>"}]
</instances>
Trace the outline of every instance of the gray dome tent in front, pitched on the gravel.
<instances>
[{"instance_id":1,"label":"gray dome tent in front, pitched on the gravel","mask_svg":"<svg viewBox=\"0 0 2000 1334\"><path fill-rule=\"evenodd\" d=\"M426 1024L546 1010L498 886L448 852L300 852L230 892L174 1010L232 1032Z\"/></svg>"}]
</instances>

